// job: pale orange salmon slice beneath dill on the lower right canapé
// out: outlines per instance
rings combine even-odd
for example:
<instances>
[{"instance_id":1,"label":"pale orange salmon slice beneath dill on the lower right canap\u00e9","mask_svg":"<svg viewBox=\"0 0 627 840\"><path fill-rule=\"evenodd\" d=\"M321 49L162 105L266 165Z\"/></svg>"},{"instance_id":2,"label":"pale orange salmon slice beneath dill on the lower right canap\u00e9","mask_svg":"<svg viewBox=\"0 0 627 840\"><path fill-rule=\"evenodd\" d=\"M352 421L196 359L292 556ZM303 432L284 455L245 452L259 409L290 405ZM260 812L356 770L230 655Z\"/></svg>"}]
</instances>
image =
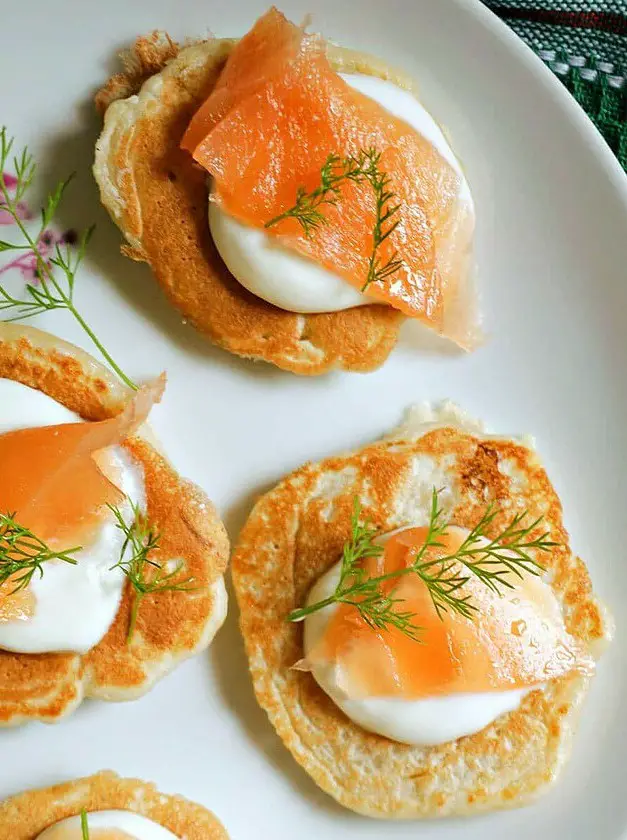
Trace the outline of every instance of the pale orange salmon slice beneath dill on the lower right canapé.
<instances>
[{"instance_id":1,"label":"pale orange salmon slice beneath dill on the lower right canap\u00e9","mask_svg":"<svg viewBox=\"0 0 627 840\"><path fill-rule=\"evenodd\" d=\"M426 528L391 537L382 557L368 560L371 574L409 565L425 541ZM439 556L458 547L467 532L449 529ZM306 664L339 666L341 688L350 697L422 699L456 693L531 688L549 679L594 667L583 645L564 626L550 587L531 575L501 595L468 575L463 594L478 609L473 618L455 612L438 616L427 587L415 575L389 581L387 591L416 613L420 641L389 627L373 629L354 606L341 605Z\"/></svg>"}]
</instances>

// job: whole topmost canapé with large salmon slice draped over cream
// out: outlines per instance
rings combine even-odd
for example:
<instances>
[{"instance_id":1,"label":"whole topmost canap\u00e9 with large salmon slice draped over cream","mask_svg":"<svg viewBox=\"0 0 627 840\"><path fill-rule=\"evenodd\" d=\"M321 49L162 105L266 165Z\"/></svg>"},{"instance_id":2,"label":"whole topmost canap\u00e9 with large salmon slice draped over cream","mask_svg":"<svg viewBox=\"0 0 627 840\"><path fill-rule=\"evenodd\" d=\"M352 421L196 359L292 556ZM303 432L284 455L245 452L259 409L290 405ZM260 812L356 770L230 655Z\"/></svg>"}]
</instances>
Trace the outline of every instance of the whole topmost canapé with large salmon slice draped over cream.
<instances>
[{"instance_id":1,"label":"whole topmost canap\u00e9 with large salmon slice draped over cream","mask_svg":"<svg viewBox=\"0 0 627 840\"><path fill-rule=\"evenodd\" d=\"M476 342L470 190L410 80L271 9L238 42L140 39L98 103L126 251L216 343L317 374L379 365L401 316Z\"/></svg>"}]
</instances>

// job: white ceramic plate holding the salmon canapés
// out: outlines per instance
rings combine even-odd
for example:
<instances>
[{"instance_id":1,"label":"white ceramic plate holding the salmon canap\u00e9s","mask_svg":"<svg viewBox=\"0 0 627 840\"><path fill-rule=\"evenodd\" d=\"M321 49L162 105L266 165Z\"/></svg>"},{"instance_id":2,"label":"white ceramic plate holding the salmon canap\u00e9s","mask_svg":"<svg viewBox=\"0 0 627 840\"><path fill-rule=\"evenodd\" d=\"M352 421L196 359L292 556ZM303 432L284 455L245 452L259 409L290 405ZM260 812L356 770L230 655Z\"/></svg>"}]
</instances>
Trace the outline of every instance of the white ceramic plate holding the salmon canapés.
<instances>
[{"instance_id":1,"label":"white ceramic plate holding the salmon canap\u00e9s","mask_svg":"<svg viewBox=\"0 0 627 840\"><path fill-rule=\"evenodd\" d=\"M180 471L216 501L233 539L260 490L309 458L372 440L412 401L451 397L495 431L532 432L574 546L613 607L616 641L562 782L523 810L383 824L335 805L257 707L234 603L209 654L143 700L87 703L59 726L0 732L0 795L112 768L205 803L234 840L618 840L627 827L627 179L560 83L478 3L286 0L293 18L313 12L329 37L421 82L474 190L491 338L461 356L437 342L420 346L409 327L378 372L319 379L216 350L182 324L147 268L119 255L90 174L99 131L91 97L136 34L240 34L267 2L4 4L2 121L32 144L42 188L77 170L63 224L98 226L81 307L131 375L167 369L154 425ZM40 325L87 346L63 314Z\"/></svg>"}]
</instances>

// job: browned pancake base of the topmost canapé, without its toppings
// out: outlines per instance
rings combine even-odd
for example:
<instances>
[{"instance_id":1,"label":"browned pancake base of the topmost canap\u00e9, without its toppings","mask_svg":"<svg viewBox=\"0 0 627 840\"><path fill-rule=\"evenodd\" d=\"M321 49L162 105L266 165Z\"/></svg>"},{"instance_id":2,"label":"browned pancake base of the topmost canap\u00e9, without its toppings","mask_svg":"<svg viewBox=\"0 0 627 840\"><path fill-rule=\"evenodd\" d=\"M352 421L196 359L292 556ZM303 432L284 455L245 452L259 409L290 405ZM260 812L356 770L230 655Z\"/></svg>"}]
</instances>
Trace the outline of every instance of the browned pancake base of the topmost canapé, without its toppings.
<instances>
[{"instance_id":1,"label":"browned pancake base of the topmost canap\u00e9, without its toppings","mask_svg":"<svg viewBox=\"0 0 627 840\"><path fill-rule=\"evenodd\" d=\"M234 41L179 49L165 33L139 38L125 72L98 93L104 129L94 175L102 203L124 234L122 250L149 263L170 302L225 350L303 375L369 371L388 357L404 316L386 305L297 315L248 292L228 272L207 221L207 173L179 148ZM334 69L409 79L368 56L329 47Z\"/></svg>"}]
</instances>

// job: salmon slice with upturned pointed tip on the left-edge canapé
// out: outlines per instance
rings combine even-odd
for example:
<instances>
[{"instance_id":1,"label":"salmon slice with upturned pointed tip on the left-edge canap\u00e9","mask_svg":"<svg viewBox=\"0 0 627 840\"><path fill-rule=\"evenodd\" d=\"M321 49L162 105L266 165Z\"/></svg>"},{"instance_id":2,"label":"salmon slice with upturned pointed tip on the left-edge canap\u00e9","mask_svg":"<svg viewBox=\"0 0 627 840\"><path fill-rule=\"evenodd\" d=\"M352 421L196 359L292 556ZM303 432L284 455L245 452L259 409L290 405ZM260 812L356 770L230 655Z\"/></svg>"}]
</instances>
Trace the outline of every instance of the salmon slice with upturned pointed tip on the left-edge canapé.
<instances>
[{"instance_id":1,"label":"salmon slice with upturned pointed tip on the left-edge canap\u00e9","mask_svg":"<svg viewBox=\"0 0 627 840\"><path fill-rule=\"evenodd\" d=\"M122 492L98 466L97 455L122 443L159 402L165 376L141 388L116 417L21 429L0 435L0 511L58 550L88 542L106 505Z\"/></svg>"}]
</instances>

